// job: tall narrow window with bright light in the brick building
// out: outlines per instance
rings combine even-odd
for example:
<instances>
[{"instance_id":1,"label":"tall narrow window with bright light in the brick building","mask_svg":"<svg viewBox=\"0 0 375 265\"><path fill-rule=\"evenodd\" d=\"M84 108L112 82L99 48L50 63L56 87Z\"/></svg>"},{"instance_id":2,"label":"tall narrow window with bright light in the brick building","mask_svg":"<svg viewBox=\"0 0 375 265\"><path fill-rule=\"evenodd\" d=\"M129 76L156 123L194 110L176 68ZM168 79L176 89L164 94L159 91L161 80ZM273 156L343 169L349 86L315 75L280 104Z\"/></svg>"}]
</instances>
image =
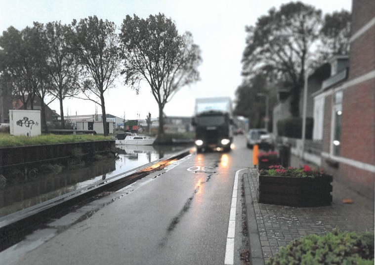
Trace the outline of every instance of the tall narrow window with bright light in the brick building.
<instances>
[{"instance_id":1,"label":"tall narrow window with bright light in the brick building","mask_svg":"<svg viewBox=\"0 0 375 265\"><path fill-rule=\"evenodd\" d=\"M342 91L333 95L333 155L340 155L341 146Z\"/></svg>"}]
</instances>

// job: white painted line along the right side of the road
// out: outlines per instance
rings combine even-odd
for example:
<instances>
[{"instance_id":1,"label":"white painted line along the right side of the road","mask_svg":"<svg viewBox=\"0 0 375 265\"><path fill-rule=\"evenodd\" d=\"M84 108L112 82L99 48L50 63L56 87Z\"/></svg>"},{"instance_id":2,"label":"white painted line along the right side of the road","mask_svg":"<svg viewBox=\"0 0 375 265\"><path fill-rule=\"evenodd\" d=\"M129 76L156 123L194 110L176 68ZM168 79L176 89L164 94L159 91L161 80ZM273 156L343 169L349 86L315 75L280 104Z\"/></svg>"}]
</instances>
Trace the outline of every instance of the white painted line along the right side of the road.
<instances>
[{"instance_id":1,"label":"white painted line along the right side of the road","mask_svg":"<svg viewBox=\"0 0 375 265\"><path fill-rule=\"evenodd\" d=\"M247 169L238 170L234 177L233 193L232 193L232 202L230 206L229 214L229 224L228 224L228 235L227 235L227 245L225 248L225 265L234 264L234 237L235 237L235 228L236 228L236 205L237 205L237 191L238 191L238 176L241 171L246 171Z\"/></svg>"}]
</instances>

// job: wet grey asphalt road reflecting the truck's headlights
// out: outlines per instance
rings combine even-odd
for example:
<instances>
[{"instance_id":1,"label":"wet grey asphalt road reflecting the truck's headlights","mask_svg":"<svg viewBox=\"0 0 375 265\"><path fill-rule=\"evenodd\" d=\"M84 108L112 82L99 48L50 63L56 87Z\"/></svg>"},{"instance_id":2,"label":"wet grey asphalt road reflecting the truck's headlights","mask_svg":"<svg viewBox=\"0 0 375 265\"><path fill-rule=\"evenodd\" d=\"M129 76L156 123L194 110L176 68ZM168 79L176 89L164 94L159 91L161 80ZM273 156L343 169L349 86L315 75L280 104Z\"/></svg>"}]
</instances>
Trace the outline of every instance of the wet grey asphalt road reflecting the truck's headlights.
<instances>
[{"instance_id":1,"label":"wet grey asphalt road reflecting the truck's headlights","mask_svg":"<svg viewBox=\"0 0 375 265\"><path fill-rule=\"evenodd\" d=\"M234 143L230 153L192 154L109 195L86 220L56 220L33 243L0 253L0 264L225 264L235 175L252 162L245 136ZM233 264L243 264L246 238L238 183Z\"/></svg>"}]
</instances>

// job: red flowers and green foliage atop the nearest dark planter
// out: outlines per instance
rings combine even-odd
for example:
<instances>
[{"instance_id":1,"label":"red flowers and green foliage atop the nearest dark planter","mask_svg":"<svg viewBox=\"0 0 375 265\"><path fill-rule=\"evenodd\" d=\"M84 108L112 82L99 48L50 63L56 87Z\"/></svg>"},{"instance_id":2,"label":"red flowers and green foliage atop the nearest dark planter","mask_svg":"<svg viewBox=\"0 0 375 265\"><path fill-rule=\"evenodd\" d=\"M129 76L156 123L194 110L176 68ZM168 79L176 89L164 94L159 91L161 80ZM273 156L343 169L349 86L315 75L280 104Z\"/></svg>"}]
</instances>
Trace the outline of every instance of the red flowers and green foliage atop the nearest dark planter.
<instances>
[{"instance_id":1,"label":"red flowers and green foliage atop the nearest dark planter","mask_svg":"<svg viewBox=\"0 0 375 265\"><path fill-rule=\"evenodd\" d=\"M284 168L280 165L269 166L268 169L262 169L259 171L259 176L272 176L272 177L317 177L317 176L328 176L324 174L323 169L317 170L312 169L308 165L304 165L303 168Z\"/></svg>"}]
</instances>

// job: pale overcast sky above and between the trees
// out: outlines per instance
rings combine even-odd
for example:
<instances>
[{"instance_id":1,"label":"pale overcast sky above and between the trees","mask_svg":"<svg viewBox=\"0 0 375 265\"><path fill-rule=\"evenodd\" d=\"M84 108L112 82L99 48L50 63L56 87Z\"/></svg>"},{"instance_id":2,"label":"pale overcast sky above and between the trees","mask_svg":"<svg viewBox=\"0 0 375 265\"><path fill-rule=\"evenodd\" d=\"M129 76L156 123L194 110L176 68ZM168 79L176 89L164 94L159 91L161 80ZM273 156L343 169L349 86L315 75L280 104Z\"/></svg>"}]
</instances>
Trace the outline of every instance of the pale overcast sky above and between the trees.
<instances>
[{"instance_id":1,"label":"pale overcast sky above and between the trees","mask_svg":"<svg viewBox=\"0 0 375 265\"><path fill-rule=\"evenodd\" d=\"M170 17L180 34L190 31L202 50L201 81L184 87L165 107L167 116L191 116L197 97L230 96L241 84L241 58L245 48L245 26L255 25L261 15L289 0L0 0L0 32L13 26L19 30L33 21L61 21L69 24L96 15L121 26L127 14L146 18L159 12ZM341 9L351 11L351 0L302 0L323 13ZM121 81L106 94L106 112L126 119L145 119L148 112L158 116L158 105L150 88L142 87L139 95ZM50 108L59 112L57 100ZM93 114L91 101L68 99L64 111L69 115ZM100 106L98 112L101 113Z\"/></svg>"}]
</instances>

